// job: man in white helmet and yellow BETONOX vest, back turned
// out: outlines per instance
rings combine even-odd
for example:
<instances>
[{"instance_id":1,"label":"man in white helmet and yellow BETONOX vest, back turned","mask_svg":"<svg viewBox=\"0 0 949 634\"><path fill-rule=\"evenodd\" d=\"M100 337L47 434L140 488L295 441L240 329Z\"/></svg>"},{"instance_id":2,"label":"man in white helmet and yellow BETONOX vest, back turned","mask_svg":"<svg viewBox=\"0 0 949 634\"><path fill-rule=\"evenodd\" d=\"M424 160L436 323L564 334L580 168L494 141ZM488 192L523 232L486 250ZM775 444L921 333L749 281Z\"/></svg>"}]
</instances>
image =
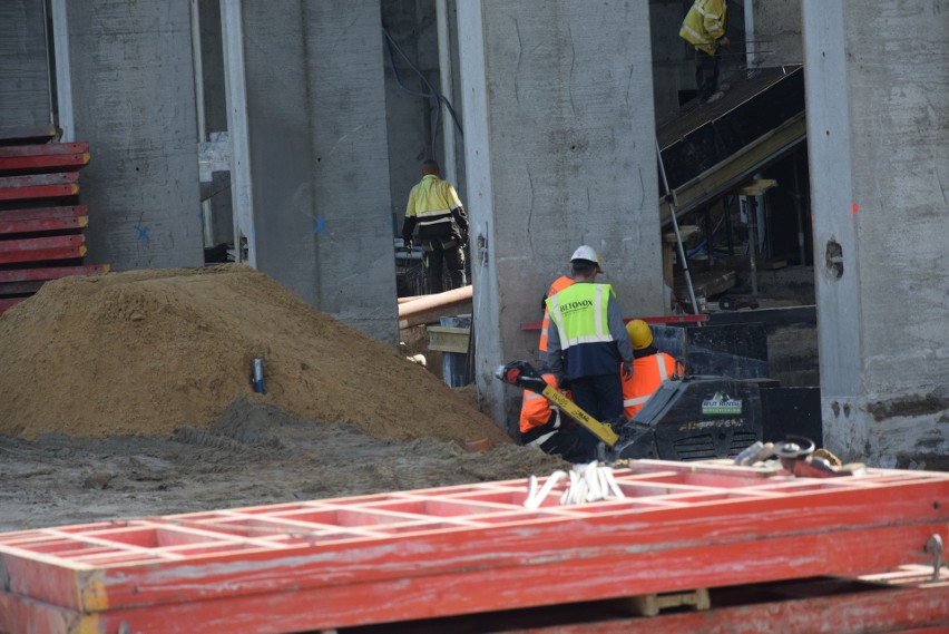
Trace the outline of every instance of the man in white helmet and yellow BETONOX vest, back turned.
<instances>
[{"instance_id":1,"label":"man in white helmet and yellow BETONOX vest, back turned","mask_svg":"<svg viewBox=\"0 0 949 634\"><path fill-rule=\"evenodd\" d=\"M633 345L623 325L616 294L609 284L597 284L603 272L599 255L583 245L570 256L574 283L547 299L554 328L547 338L547 363L558 382L570 382L574 402L600 422L623 417L623 378L633 374ZM584 437L595 451L598 439Z\"/></svg>"}]
</instances>

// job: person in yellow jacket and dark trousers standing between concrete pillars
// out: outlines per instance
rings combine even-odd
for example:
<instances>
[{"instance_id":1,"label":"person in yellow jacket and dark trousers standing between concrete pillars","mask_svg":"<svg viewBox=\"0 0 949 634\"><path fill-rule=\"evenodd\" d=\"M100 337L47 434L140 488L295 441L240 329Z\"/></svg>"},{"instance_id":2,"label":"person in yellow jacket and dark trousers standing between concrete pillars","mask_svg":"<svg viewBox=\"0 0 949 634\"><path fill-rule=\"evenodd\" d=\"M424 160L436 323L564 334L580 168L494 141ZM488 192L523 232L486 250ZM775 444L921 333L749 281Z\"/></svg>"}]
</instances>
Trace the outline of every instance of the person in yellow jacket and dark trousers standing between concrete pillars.
<instances>
[{"instance_id":1,"label":"person in yellow jacket and dark trousers standing between concrete pillars","mask_svg":"<svg viewBox=\"0 0 949 634\"><path fill-rule=\"evenodd\" d=\"M464 243L468 216L454 187L441 179L438 162L422 164L422 181L412 187L402 223L402 241L412 248L412 232L419 226L419 240L424 252L425 280L429 293L441 293L442 263L448 267L451 285L459 289L468 282L464 276Z\"/></svg>"}]
</instances>

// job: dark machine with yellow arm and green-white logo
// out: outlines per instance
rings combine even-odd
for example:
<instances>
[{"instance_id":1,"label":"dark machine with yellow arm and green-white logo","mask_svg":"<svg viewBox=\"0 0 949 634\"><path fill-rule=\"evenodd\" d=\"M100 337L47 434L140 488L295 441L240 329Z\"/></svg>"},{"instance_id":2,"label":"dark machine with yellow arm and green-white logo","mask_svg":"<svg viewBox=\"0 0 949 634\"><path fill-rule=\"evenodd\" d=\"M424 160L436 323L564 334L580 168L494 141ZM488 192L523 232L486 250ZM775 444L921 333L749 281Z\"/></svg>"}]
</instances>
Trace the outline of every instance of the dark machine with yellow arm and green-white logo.
<instances>
[{"instance_id":1,"label":"dark machine with yellow arm and green-white logo","mask_svg":"<svg viewBox=\"0 0 949 634\"><path fill-rule=\"evenodd\" d=\"M549 386L526 361L500 365L505 383L537 392L600 440L599 458L734 458L763 437L760 382L713 375L673 377L636 414L599 421Z\"/></svg>"}]
</instances>

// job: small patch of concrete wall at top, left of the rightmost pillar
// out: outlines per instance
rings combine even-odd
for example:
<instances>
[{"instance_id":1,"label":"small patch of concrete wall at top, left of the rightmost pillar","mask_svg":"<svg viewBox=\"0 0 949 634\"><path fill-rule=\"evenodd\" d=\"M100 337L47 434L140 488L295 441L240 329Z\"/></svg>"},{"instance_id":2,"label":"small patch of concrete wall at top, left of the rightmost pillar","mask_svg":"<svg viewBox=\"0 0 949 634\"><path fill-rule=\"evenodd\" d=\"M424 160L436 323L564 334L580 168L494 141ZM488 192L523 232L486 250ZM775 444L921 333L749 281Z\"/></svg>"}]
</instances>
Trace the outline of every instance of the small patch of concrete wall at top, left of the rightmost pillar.
<instances>
[{"instance_id":1,"label":"small patch of concrete wall at top, left of the rightmost pillar","mask_svg":"<svg viewBox=\"0 0 949 634\"><path fill-rule=\"evenodd\" d=\"M745 0L745 27L750 31L749 67L801 64L801 0ZM751 32L753 31L753 32Z\"/></svg>"}]
</instances>

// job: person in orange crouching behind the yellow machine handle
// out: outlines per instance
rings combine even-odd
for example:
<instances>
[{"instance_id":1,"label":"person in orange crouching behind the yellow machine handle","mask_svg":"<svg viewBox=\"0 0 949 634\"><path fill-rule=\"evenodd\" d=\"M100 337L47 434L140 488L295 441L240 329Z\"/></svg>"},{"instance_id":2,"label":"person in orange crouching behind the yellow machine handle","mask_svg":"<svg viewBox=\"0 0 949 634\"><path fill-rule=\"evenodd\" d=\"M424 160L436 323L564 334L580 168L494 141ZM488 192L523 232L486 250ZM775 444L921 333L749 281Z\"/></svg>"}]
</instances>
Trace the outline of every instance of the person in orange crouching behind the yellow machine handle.
<instances>
[{"instance_id":1,"label":"person in orange crouching behind the yellow machine handle","mask_svg":"<svg viewBox=\"0 0 949 634\"><path fill-rule=\"evenodd\" d=\"M557 379L550 372L541 373L547 384L557 387ZM570 392L560 390L568 399ZM520 406L520 440L525 447L537 447L545 453L560 456L570 462L586 462L588 456L586 440L580 426L560 413L544 396L530 390L524 391Z\"/></svg>"}]
</instances>

